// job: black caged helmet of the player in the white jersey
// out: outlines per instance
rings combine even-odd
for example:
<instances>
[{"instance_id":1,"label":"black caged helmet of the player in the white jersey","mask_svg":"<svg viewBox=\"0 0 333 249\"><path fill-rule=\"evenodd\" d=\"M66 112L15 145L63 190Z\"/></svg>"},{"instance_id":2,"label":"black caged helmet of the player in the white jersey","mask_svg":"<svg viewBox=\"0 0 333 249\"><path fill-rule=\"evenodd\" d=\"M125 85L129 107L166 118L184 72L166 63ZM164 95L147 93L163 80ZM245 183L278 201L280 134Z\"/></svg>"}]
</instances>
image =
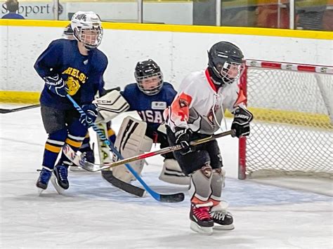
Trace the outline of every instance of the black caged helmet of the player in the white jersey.
<instances>
[{"instance_id":1,"label":"black caged helmet of the player in the white jersey","mask_svg":"<svg viewBox=\"0 0 333 249\"><path fill-rule=\"evenodd\" d=\"M208 52L208 67L214 73L217 84L233 83L240 78L244 55L233 43L220 41Z\"/></svg>"}]
</instances>

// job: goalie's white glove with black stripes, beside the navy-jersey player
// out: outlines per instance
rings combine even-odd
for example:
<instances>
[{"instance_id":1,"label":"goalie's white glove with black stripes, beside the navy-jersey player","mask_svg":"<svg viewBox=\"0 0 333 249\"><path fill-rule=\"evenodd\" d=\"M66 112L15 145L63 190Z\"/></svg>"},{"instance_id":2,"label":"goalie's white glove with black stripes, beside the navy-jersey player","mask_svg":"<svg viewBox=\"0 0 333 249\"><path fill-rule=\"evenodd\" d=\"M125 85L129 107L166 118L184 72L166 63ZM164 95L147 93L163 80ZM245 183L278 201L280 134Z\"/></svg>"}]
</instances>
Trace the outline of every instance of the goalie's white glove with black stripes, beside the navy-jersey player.
<instances>
[{"instance_id":1,"label":"goalie's white glove with black stripes, beside the navy-jersey player","mask_svg":"<svg viewBox=\"0 0 333 249\"><path fill-rule=\"evenodd\" d=\"M98 107L96 123L111 121L115 116L129 109L129 103L120 94L119 90L112 90L103 97L93 100L93 104Z\"/></svg>"}]
</instances>

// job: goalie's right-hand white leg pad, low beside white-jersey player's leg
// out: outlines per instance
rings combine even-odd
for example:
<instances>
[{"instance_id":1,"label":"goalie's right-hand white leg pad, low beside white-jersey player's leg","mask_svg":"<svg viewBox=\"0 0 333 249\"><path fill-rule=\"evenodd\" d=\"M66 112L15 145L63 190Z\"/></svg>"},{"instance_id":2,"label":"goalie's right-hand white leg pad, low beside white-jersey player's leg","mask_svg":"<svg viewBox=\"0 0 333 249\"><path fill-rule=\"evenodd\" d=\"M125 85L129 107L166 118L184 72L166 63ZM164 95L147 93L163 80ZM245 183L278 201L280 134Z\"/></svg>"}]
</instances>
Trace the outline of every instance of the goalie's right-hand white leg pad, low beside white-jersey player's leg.
<instances>
[{"instance_id":1,"label":"goalie's right-hand white leg pad, low beside white-jersey player's leg","mask_svg":"<svg viewBox=\"0 0 333 249\"><path fill-rule=\"evenodd\" d=\"M159 180L172 184L188 185L190 176L185 175L176 159L165 159Z\"/></svg>"}]
</instances>

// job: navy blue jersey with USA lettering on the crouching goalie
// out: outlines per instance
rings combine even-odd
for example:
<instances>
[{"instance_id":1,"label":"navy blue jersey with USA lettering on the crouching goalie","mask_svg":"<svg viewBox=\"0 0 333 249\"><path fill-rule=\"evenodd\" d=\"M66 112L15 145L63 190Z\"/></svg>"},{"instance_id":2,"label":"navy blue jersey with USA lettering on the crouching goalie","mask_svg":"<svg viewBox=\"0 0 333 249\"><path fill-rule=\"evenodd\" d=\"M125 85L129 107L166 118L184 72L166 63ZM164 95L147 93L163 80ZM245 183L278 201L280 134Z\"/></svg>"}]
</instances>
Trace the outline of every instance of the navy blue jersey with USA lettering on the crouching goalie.
<instances>
[{"instance_id":1,"label":"navy blue jersey with USA lettering on the crouching goalie","mask_svg":"<svg viewBox=\"0 0 333 249\"><path fill-rule=\"evenodd\" d=\"M145 121L148 127L157 130L163 120L163 111L169 107L176 96L176 90L164 82L162 89L156 95L145 95L136 83L131 83L121 92L122 96L129 102L127 111L136 111Z\"/></svg>"}]
</instances>

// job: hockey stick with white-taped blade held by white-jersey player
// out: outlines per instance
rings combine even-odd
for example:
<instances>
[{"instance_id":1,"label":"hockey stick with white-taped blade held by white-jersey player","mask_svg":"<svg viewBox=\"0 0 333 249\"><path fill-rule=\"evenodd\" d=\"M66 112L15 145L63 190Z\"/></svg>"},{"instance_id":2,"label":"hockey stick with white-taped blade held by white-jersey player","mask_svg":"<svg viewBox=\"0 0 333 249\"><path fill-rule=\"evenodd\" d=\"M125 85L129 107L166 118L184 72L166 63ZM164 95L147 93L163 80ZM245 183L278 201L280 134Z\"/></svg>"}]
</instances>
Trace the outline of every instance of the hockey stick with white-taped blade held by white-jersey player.
<instances>
[{"instance_id":1,"label":"hockey stick with white-taped blade held by white-jersey player","mask_svg":"<svg viewBox=\"0 0 333 249\"><path fill-rule=\"evenodd\" d=\"M190 142L190 145L195 146L198 144L203 144L204 142L209 142L211 140L215 140L218 137L225 137L227 135L233 135L233 133L234 133L233 130L227 130L224 133L210 135L209 137L204 137L202 139L192 141L192 142ZM148 152L148 153L144 153L144 154L141 154L138 156L129 157L128 159L123 159L123 160L115 161L113 163L104 163L104 164L97 164L97 163L91 163L89 161L86 161L84 159L83 154L81 154L80 156L75 154L75 152L72 150L72 148L68 144L66 144L63 147L63 152L71 161L73 161L73 163L77 164L81 168L84 168L85 170L88 170L91 172L96 172L99 170L106 170L107 168L113 168L113 167L122 165L124 163L130 163L133 161L146 159L150 156L156 156L156 155L166 154L169 152L175 152L179 149L181 149L181 145L175 145L175 146L166 147L164 149L159 149L155 152Z\"/></svg>"}]
</instances>

